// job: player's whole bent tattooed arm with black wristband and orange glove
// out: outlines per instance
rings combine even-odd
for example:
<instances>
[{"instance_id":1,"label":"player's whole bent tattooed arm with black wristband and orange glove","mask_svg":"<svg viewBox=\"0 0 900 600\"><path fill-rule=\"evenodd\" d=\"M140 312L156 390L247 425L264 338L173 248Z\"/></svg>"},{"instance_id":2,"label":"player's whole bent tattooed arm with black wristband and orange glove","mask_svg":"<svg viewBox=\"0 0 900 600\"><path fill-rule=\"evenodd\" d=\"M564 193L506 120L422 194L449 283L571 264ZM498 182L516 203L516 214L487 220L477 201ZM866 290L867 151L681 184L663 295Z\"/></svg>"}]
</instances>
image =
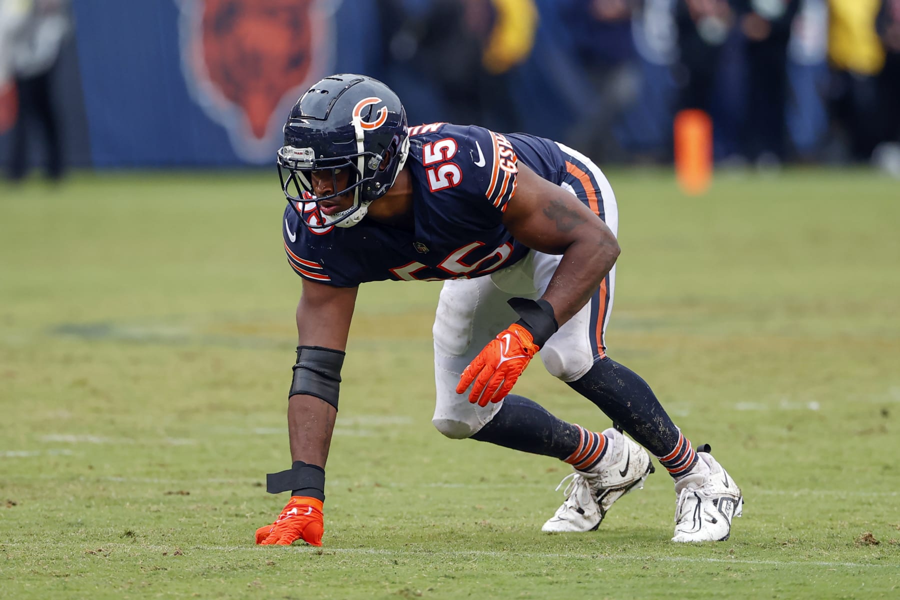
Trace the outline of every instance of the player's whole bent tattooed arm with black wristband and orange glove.
<instances>
[{"instance_id":1,"label":"player's whole bent tattooed arm with black wristband and orange glove","mask_svg":"<svg viewBox=\"0 0 900 600\"><path fill-rule=\"evenodd\" d=\"M602 219L522 163L503 224L526 246L563 259L540 300L509 300L522 318L491 340L460 377L456 393L471 385L469 401L482 407L509 394L540 347L590 300L619 254Z\"/></svg>"}]
</instances>

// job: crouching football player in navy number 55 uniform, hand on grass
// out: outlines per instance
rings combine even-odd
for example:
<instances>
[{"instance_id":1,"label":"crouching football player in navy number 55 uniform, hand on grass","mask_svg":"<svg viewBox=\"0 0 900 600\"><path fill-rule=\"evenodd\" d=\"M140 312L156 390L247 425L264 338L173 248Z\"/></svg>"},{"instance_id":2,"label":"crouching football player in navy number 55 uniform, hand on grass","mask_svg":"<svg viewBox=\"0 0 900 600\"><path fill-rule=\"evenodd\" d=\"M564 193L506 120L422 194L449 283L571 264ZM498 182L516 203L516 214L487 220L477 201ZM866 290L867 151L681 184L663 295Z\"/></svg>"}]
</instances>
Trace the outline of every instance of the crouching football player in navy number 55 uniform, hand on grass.
<instances>
[{"instance_id":1,"label":"crouching football player in navy number 55 uniform, hand on grass","mask_svg":"<svg viewBox=\"0 0 900 600\"><path fill-rule=\"evenodd\" d=\"M444 281L433 330L437 430L572 465L563 506L543 531L597 529L653 472L646 448L675 481L672 540L728 538L741 490L708 447L681 434L644 380L606 354L618 212L589 158L522 133L408 128L386 85L336 75L294 104L277 163L288 200L284 250L303 290L288 395L293 465L267 478L269 492L290 491L291 499L257 530L257 543L321 544L356 291L388 279ZM637 443L510 393L538 351L547 371Z\"/></svg>"}]
</instances>

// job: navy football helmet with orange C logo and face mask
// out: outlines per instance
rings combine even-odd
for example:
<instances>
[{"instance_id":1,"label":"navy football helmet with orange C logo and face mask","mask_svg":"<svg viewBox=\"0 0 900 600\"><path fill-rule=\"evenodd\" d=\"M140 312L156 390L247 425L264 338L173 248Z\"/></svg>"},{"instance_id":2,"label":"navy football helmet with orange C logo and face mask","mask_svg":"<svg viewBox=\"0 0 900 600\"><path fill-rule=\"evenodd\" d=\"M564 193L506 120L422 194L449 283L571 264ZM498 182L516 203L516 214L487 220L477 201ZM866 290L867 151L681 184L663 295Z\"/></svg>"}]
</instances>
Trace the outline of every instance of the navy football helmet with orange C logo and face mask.
<instances>
[{"instance_id":1,"label":"navy football helmet with orange C logo and face mask","mask_svg":"<svg viewBox=\"0 0 900 600\"><path fill-rule=\"evenodd\" d=\"M372 77L333 75L293 105L278 150L278 177L288 203L308 227L351 227L393 185L409 153L406 111L397 94ZM336 174L345 169L349 182L338 192ZM330 172L335 193L315 197L312 171ZM319 210L319 201L344 193L353 193L349 209L334 215ZM302 213L310 210L317 218L304 219Z\"/></svg>"}]
</instances>

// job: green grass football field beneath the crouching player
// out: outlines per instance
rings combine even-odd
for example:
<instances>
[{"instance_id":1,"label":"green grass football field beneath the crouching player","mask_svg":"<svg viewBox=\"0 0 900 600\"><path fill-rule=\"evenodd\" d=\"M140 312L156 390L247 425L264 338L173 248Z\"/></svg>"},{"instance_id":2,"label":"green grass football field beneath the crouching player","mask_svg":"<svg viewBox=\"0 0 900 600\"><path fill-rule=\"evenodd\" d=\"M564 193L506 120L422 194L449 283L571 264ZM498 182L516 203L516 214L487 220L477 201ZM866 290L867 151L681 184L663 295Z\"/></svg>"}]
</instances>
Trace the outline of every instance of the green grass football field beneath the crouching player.
<instances>
[{"instance_id":1,"label":"green grass football field beneath the crouching player","mask_svg":"<svg viewBox=\"0 0 900 600\"><path fill-rule=\"evenodd\" d=\"M325 545L256 547L286 497L300 280L274 174L0 184L0 597L898 598L900 184L612 172L610 355L743 487L674 545L661 470L546 535L568 472L430 425L439 284L362 288ZM516 388L602 429L532 364Z\"/></svg>"}]
</instances>

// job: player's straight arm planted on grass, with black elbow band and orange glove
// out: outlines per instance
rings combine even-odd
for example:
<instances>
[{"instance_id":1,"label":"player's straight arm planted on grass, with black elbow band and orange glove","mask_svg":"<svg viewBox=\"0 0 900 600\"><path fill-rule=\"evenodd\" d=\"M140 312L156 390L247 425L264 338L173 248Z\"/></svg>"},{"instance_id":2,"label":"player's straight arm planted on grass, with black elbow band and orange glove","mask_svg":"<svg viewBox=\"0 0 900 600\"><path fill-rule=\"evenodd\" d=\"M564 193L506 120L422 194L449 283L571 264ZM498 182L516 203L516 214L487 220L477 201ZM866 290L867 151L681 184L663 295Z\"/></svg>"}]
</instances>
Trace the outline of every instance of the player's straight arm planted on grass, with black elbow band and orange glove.
<instances>
[{"instance_id":1,"label":"player's straight arm planted on grass, with black elbow band and orange glove","mask_svg":"<svg viewBox=\"0 0 900 600\"><path fill-rule=\"evenodd\" d=\"M290 490L291 500L274 524L257 529L257 543L286 545L302 539L322 544L325 463L338 415L340 366L356 291L303 281L297 305L297 363L287 409L293 466L268 477L268 490Z\"/></svg>"}]
</instances>

